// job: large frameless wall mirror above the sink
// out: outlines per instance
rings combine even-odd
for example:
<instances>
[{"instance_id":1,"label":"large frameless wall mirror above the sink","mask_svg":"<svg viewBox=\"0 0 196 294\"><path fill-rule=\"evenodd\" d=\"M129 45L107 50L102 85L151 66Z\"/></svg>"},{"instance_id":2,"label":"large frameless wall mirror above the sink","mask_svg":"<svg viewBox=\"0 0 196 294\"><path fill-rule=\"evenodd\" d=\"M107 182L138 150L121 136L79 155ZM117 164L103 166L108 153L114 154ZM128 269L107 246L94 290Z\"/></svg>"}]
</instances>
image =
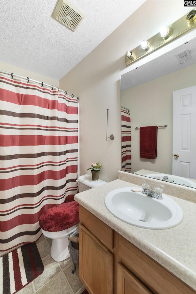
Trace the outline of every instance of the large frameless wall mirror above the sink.
<instances>
[{"instance_id":1,"label":"large frameless wall mirror above the sink","mask_svg":"<svg viewBox=\"0 0 196 294\"><path fill-rule=\"evenodd\" d=\"M122 111L129 115L130 110L131 126L131 141L122 139L128 149L126 159L122 149L122 170L126 166L126 171L138 175L196 188L195 45L196 38L121 76ZM179 108L184 114L179 114ZM158 126L156 159L140 157L142 126ZM183 158L181 151L189 157Z\"/></svg>"}]
</instances>

